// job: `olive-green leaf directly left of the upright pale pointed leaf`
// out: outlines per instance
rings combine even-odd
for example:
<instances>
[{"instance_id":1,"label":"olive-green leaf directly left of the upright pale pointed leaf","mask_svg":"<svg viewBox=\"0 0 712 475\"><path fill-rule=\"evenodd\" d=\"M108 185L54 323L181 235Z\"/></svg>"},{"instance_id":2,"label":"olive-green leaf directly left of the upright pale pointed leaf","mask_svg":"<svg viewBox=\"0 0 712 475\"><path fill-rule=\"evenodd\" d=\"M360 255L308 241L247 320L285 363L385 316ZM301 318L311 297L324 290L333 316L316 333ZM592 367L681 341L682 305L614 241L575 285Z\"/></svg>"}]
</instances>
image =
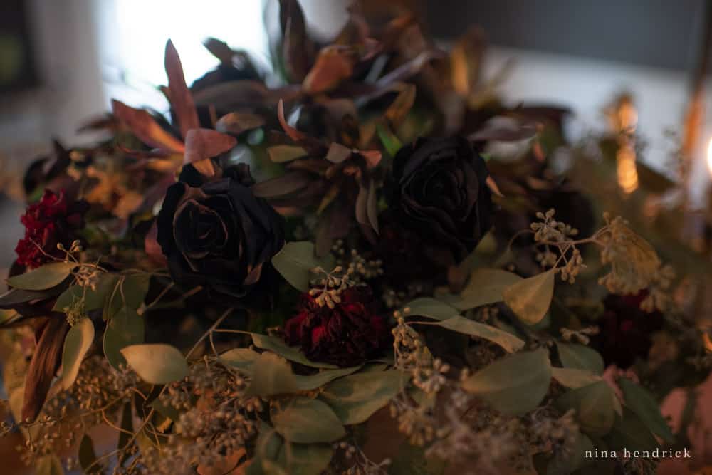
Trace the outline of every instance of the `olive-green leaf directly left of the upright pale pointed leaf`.
<instances>
[{"instance_id":1,"label":"olive-green leaf directly left of the upright pale pointed leaf","mask_svg":"<svg viewBox=\"0 0 712 475\"><path fill-rule=\"evenodd\" d=\"M441 299L459 310L469 310L504 300L506 288L523 279L515 273L500 269L481 268L472 273L459 295L445 294Z\"/></svg>"}]
</instances>

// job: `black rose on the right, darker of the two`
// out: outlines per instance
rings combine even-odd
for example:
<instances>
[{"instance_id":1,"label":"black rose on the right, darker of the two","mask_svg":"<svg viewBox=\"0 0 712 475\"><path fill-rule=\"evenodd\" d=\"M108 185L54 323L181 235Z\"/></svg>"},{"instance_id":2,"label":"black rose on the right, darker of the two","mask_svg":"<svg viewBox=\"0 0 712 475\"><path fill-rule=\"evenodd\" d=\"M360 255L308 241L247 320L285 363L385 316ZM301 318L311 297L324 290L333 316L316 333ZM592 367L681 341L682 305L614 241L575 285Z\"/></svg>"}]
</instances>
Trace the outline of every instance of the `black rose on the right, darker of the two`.
<instances>
[{"instance_id":1,"label":"black rose on the right, darker of the two","mask_svg":"<svg viewBox=\"0 0 712 475\"><path fill-rule=\"evenodd\" d=\"M420 138L402 147L389 179L389 214L416 233L442 266L461 262L490 229L485 162L463 137Z\"/></svg>"}]
</instances>

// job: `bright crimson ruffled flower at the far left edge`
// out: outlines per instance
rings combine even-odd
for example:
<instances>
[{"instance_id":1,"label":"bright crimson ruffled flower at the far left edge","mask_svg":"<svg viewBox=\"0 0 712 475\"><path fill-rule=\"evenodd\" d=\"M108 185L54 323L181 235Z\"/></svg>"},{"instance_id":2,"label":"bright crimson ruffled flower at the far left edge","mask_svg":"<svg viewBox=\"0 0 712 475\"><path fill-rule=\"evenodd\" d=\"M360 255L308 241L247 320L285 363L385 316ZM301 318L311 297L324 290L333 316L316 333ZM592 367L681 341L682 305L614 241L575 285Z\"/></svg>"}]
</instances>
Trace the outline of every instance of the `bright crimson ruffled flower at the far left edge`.
<instances>
[{"instance_id":1,"label":"bright crimson ruffled flower at the far left edge","mask_svg":"<svg viewBox=\"0 0 712 475\"><path fill-rule=\"evenodd\" d=\"M78 238L76 231L84 227L84 214L89 209L85 201L69 202L63 191L56 194L46 189L42 199L31 204L20 218L25 225L25 237L15 248L17 263L35 268L62 257L57 244L67 249Z\"/></svg>"}]
</instances>

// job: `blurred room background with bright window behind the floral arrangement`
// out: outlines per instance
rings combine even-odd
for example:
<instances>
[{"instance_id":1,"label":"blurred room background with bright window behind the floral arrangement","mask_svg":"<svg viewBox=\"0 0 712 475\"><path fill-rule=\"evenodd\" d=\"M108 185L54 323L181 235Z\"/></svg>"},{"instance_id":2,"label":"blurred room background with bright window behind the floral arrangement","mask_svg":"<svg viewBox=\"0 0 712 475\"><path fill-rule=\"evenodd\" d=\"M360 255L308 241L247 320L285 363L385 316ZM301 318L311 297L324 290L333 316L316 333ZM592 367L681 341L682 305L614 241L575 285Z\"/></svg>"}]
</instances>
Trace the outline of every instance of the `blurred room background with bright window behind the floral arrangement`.
<instances>
[{"instance_id":1,"label":"blurred room background with bright window behind the floral arrangement","mask_svg":"<svg viewBox=\"0 0 712 475\"><path fill-rule=\"evenodd\" d=\"M406 6L444 44L478 24L488 40L485 77L503 74L510 103L536 100L570 107L570 137L606 127L602 111L630 91L637 111L639 160L671 174L695 71L706 59L706 0L397 0L364 2L370 9ZM303 0L309 26L328 38L345 21L348 0ZM18 177L51 138L81 145L77 132L108 110L110 98L130 105L167 106L163 51L172 38L188 83L218 61L201 41L214 36L244 48L268 67L265 23L273 0L3 0L0 2L0 261L13 259L21 226ZM712 100L703 102L704 110ZM702 121L702 137L712 122ZM695 144L692 199L709 182L706 138Z\"/></svg>"}]
</instances>

